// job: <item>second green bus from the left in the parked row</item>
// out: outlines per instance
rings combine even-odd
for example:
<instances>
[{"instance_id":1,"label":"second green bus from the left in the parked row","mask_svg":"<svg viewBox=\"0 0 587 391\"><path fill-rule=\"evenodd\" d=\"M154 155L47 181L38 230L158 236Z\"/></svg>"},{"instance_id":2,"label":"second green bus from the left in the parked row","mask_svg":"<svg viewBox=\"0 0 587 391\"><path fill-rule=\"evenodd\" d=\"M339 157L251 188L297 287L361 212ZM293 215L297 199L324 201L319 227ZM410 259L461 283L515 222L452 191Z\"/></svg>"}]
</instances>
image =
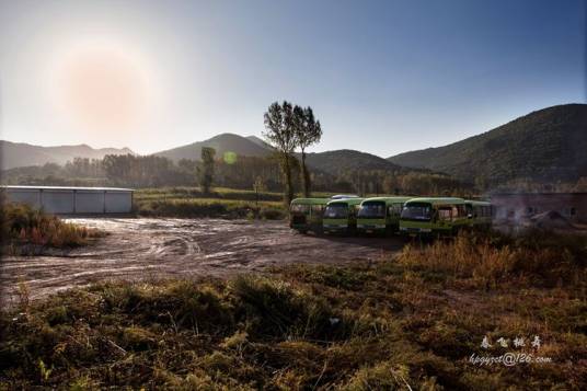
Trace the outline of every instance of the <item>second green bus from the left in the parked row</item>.
<instances>
[{"instance_id":1,"label":"second green bus from the left in the parked row","mask_svg":"<svg viewBox=\"0 0 587 391\"><path fill-rule=\"evenodd\" d=\"M352 197L331 200L324 209L324 233L354 233L357 230L357 210L362 198Z\"/></svg>"}]
</instances>

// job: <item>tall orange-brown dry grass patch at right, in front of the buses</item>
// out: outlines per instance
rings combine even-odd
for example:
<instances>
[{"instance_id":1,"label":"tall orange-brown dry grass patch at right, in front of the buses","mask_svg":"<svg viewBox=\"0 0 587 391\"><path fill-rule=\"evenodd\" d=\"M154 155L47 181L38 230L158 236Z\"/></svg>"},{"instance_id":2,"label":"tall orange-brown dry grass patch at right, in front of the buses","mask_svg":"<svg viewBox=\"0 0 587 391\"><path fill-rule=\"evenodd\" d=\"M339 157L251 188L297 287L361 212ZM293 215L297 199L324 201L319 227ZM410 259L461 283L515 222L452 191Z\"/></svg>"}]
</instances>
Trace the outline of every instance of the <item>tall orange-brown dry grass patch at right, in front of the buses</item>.
<instances>
[{"instance_id":1,"label":"tall orange-brown dry grass patch at right, in front of the buses","mask_svg":"<svg viewBox=\"0 0 587 391\"><path fill-rule=\"evenodd\" d=\"M442 273L459 284L479 287L526 279L548 286L576 284L585 277L585 239L541 231L515 239L463 232L450 241L406 245L398 261L411 269Z\"/></svg>"}]
</instances>

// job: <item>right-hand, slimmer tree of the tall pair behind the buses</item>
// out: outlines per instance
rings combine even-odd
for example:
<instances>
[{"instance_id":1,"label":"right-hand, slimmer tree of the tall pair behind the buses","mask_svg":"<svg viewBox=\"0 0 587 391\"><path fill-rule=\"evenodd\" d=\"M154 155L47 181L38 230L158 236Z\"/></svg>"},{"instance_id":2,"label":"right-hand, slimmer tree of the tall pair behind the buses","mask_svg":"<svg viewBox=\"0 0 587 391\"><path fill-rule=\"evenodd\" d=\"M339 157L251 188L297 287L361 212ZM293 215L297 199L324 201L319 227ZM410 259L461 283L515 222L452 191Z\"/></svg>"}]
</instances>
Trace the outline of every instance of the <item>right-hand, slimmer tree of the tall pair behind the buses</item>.
<instances>
[{"instance_id":1,"label":"right-hand, slimmer tree of the tall pair behind the buses","mask_svg":"<svg viewBox=\"0 0 587 391\"><path fill-rule=\"evenodd\" d=\"M311 180L308 166L306 165L306 149L322 138L322 127L316 120L312 107L294 107L296 125L296 139L301 150L301 182L303 184L303 196L310 197Z\"/></svg>"}]
</instances>

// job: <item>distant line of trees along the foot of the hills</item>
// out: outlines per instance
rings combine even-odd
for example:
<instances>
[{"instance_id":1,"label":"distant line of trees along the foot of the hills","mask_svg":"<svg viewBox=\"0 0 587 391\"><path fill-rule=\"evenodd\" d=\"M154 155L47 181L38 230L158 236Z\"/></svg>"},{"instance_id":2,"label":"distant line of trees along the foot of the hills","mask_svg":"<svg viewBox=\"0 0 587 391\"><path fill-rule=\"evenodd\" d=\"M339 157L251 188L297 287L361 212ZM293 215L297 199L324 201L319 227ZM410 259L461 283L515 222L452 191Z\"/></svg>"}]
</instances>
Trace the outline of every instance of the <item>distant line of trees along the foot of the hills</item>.
<instances>
[{"instance_id":1,"label":"distant line of trees along the foot of the hills","mask_svg":"<svg viewBox=\"0 0 587 391\"><path fill-rule=\"evenodd\" d=\"M106 156L104 159L76 158L65 165L48 163L7 170L4 184L71 185L71 186L195 186L202 163L146 156ZM294 179L299 179L300 164L292 159ZM336 175L310 168L313 189L356 194L441 194L474 193L472 185L454 177L423 172L393 172L389 170L346 170ZM264 188L280 192L284 188L279 162L275 157L238 157L235 160L216 159L214 186L251 189L255 183ZM302 184L294 181L296 193Z\"/></svg>"}]
</instances>

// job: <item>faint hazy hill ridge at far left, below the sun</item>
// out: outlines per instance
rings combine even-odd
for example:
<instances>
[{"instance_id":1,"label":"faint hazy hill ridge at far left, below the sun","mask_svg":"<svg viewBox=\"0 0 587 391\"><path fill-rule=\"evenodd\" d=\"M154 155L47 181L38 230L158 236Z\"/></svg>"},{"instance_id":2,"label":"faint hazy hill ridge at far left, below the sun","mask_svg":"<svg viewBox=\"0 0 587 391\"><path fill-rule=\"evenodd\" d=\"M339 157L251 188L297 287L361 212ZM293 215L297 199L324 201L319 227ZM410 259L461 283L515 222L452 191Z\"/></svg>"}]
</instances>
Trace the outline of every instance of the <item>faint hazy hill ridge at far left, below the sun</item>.
<instances>
[{"instance_id":1,"label":"faint hazy hill ridge at far left, below the sun","mask_svg":"<svg viewBox=\"0 0 587 391\"><path fill-rule=\"evenodd\" d=\"M87 145L39 147L24 142L0 140L0 164L2 170L18 166L43 165L45 163L65 164L73 158L102 159L106 154L127 154L128 148L94 149Z\"/></svg>"}]
</instances>

